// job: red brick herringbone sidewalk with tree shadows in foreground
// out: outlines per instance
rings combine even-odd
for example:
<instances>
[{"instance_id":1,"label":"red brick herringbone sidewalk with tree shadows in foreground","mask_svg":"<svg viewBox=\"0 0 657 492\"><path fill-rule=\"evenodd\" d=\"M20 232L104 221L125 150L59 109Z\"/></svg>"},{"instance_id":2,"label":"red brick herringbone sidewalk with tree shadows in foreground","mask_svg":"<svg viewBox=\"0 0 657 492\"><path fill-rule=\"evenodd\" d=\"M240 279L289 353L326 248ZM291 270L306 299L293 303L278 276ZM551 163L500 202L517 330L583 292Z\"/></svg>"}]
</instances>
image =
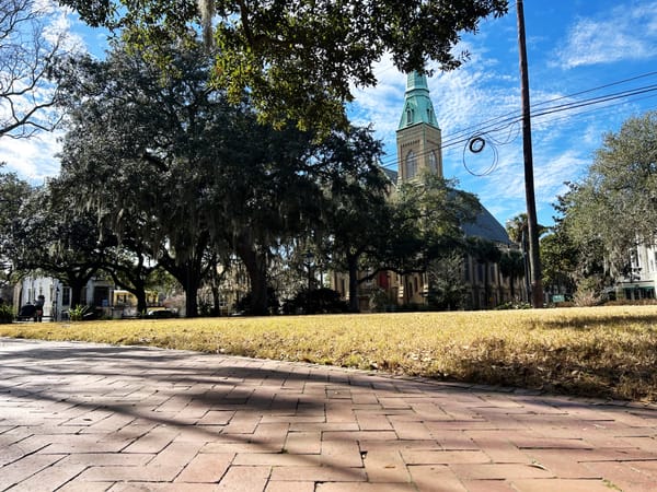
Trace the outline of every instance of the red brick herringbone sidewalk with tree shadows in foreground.
<instances>
[{"instance_id":1,"label":"red brick herringbone sidewalk with tree shadows in foreground","mask_svg":"<svg viewBox=\"0 0 657 492\"><path fill-rule=\"evenodd\" d=\"M656 491L657 410L0 339L0 490Z\"/></svg>"}]
</instances>

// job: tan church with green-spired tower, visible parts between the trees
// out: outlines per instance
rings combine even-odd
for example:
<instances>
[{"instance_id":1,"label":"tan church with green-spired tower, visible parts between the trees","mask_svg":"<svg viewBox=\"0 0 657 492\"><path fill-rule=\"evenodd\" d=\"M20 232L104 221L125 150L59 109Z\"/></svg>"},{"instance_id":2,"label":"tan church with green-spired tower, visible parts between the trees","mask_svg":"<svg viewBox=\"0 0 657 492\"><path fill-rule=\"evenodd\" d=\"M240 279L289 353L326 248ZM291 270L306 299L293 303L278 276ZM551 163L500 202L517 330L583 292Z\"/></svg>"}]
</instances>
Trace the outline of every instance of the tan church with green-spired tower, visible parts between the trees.
<instances>
[{"instance_id":1,"label":"tan church with green-spired tower, visible parts between the trees","mask_svg":"<svg viewBox=\"0 0 657 492\"><path fill-rule=\"evenodd\" d=\"M407 75L402 116L396 130L397 172L387 174L393 185L416 179L424 172L442 173L442 141L427 78L412 72ZM466 237L479 237L494 243L502 251L515 248L504 226L485 209L479 212L471 223L462 225ZM343 276L334 273L332 288L348 298L348 289ZM461 279L469 291L464 307L470 309L493 308L505 302L522 297L522 285L512 289L509 278L505 278L497 263L484 263L470 255L464 255ZM520 283L520 282L518 282ZM429 281L427 273L400 276L392 271L381 272L377 278L362 282L359 288L360 311L377 308L372 298L384 297L389 306L426 305ZM511 295L514 292L514 295Z\"/></svg>"}]
</instances>

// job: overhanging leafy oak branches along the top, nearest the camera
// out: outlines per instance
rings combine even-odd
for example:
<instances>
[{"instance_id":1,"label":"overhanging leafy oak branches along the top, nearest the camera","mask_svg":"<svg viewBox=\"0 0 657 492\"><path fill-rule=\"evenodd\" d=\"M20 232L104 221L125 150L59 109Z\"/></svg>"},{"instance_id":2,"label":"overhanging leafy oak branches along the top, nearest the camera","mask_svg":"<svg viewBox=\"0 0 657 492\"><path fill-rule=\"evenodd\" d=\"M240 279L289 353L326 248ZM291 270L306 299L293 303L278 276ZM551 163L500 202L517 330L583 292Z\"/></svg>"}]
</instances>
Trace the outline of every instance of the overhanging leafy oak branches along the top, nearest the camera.
<instances>
[{"instance_id":1,"label":"overhanging leafy oak branches along the top, nearest the camera","mask_svg":"<svg viewBox=\"0 0 657 492\"><path fill-rule=\"evenodd\" d=\"M166 63L172 42L203 30L216 55L214 81L239 101L249 91L260 117L323 134L346 125L353 86L377 83L390 55L403 72L458 67L453 48L507 0L59 0L90 25L120 32L130 46ZM198 3L198 4L197 4Z\"/></svg>"}]
</instances>

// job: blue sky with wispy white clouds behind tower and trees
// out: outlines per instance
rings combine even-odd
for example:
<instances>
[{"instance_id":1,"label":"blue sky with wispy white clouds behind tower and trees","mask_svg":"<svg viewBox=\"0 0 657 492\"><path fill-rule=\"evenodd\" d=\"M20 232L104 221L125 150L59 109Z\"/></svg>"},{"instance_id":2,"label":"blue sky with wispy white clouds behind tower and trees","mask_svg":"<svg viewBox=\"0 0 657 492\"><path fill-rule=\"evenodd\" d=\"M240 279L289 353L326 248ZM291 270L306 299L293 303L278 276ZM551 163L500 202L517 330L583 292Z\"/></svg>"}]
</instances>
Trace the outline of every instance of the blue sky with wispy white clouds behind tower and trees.
<instances>
[{"instance_id":1,"label":"blue sky with wispy white clouds behind tower and trees","mask_svg":"<svg viewBox=\"0 0 657 492\"><path fill-rule=\"evenodd\" d=\"M506 16L486 20L476 35L463 37L458 49L470 52L469 61L429 79L446 177L476 194L503 224L526 210L521 128L508 121L520 114L516 8L509 3ZM532 140L539 222L550 225L564 181L583 176L603 133L657 105L657 0L526 0L525 16L532 109L548 113L532 118ZM74 21L70 28L88 49L102 54L103 33ZM377 87L354 90L349 114L356 124L373 126L387 152L382 164L396 168L406 78L387 59L376 73ZM614 98L589 104L606 96ZM583 106L554 112L577 102ZM484 151L464 152L464 139L479 133L486 140ZM0 161L43 183L59 171L58 137L3 139Z\"/></svg>"}]
</instances>

